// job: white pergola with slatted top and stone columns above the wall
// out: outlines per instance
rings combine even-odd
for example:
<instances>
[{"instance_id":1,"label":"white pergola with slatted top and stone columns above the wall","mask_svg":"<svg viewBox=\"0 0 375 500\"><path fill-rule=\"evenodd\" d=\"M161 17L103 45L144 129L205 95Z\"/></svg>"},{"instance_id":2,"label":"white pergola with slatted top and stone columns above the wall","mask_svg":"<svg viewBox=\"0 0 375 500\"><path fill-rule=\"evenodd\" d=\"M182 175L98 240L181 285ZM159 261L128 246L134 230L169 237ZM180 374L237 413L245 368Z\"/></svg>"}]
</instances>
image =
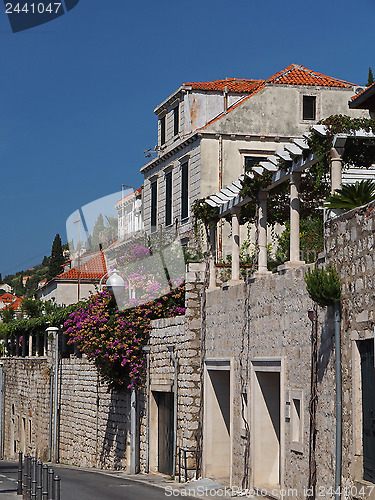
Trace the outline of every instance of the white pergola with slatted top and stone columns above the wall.
<instances>
[{"instance_id":1,"label":"white pergola with slatted top and stone columns above the wall","mask_svg":"<svg viewBox=\"0 0 375 500\"><path fill-rule=\"evenodd\" d=\"M314 125L312 129L322 135L327 135L328 129L324 125ZM212 207L220 208L220 217L231 214L232 217L232 269L229 284L240 281L240 231L239 213L241 207L250 201L248 197L241 197L242 181L246 176L254 178L255 174L263 175L272 172L272 182L258 193L258 271L257 275L265 275L267 270L267 198L268 192L278 184L290 181L290 260L285 263L288 268L298 267L304 264L300 260L300 180L301 173L317 163L318 158L313 155L308 147L307 139L310 132L303 137L294 139L290 144L284 146L283 150L269 156L266 161L260 162L259 166L252 168L231 184L221 189L219 192L206 198L206 203ZM338 134L333 138L330 151L330 171L331 171L331 193L341 188L342 185L342 155L346 145L353 139L360 139L365 144L375 144L375 134L366 132L363 129L353 131L348 134ZM293 155L293 157L291 156ZM293 160L298 155L297 160ZM304 159L305 158L305 159ZM280 160L288 165L287 169L280 169ZM374 172L375 173L375 172ZM329 216L333 217L337 212L330 211ZM211 247L215 248L215 231L210 232ZM214 251L210 261L210 282L209 289L216 288L215 255Z\"/></svg>"}]
</instances>

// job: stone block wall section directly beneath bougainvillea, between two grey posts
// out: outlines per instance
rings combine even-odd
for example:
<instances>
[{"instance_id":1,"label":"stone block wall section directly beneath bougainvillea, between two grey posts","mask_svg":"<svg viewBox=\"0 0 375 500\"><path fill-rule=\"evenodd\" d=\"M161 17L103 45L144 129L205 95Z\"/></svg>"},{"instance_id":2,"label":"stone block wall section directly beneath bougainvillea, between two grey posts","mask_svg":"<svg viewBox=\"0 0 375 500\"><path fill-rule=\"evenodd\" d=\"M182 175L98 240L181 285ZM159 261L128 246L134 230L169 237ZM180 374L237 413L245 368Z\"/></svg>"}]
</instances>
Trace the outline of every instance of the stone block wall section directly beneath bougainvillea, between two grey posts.
<instances>
[{"instance_id":1,"label":"stone block wall section directly beneath bougainvillea, between two grey posts","mask_svg":"<svg viewBox=\"0 0 375 500\"><path fill-rule=\"evenodd\" d=\"M129 466L130 395L108 391L86 358L62 360L60 462L80 467Z\"/></svg>"}]
</instances>

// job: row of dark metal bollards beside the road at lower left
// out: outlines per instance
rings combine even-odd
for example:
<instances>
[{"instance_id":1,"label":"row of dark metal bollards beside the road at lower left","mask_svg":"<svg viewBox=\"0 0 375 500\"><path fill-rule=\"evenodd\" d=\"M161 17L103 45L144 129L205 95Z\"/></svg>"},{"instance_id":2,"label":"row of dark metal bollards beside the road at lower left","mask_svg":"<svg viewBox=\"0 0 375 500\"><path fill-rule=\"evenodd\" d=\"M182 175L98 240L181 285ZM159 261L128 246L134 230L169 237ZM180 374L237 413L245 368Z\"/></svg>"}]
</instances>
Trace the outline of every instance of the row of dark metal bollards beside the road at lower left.
<instances>
[{"instance_id":1,"label":"row of dark metal bollards beside the road at lower left","mask_svg":"<svg viewBox=\"0 0 375 500\"><path fill-rule=\"evenodd\" d=\"M18 453L17 495L23 500L60 500L60 477L30 455Z\"/></svg>"}]
</instances>

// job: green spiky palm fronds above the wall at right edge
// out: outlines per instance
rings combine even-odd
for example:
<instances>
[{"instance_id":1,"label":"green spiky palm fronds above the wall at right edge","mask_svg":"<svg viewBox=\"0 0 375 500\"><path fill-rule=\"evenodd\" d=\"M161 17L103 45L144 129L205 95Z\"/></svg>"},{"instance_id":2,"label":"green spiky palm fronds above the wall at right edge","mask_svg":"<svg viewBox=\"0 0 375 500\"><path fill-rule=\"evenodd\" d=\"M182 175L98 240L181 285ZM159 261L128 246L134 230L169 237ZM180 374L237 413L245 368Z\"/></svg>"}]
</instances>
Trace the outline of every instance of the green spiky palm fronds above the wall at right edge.
<instances>
[{"instance_id":1,"label":"green spiky palm fronds above the wall at right edge","mask_svg":"<svg viewBox=\"0 0 375 500\"><path fill-rule=\"evenodd\" d=\"M375 200L375 182L367 179L355 184L345 184L327 198L326 207L352 210Z\"/></svg>"}]
</instances>

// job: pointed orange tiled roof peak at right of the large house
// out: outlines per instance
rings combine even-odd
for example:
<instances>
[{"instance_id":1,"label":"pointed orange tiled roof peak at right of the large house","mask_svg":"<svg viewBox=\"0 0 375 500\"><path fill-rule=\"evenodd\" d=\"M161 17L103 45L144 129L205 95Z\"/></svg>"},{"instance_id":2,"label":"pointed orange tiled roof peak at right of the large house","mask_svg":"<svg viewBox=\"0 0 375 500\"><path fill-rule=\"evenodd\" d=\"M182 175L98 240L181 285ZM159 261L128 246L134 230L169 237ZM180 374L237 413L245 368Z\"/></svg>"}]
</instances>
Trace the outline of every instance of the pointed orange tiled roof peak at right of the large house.
<instances>
[{"instance_id":1,"label":"pointed orange tiled roof peak at right of the large house","mask_svg":"<svg viewBox=\"0 0 375 500\"><path fill-rule=\"evenodd\" d=\"M276 83L280 85L318 85L320 87L341 88L349 88L354 85L354 83L312 71L299 64L291 64L282 71L275 73L267 80L267 83Z\"/></svg>"}]
</instances>

